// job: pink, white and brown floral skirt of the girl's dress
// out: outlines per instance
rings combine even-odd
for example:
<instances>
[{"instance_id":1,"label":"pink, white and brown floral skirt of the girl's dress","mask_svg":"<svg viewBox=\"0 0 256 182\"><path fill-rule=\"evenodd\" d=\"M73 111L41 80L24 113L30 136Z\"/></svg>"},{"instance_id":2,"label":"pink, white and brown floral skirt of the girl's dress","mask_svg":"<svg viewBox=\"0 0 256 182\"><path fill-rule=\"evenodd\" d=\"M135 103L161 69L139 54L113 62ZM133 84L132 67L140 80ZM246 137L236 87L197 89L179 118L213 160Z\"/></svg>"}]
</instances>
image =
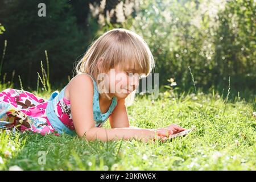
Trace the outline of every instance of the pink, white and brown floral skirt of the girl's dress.
<instances>
[{"instance_id":1,"label":"pink, white and brown floral skirt of the girl's dress","mask_svg":"<svg viewBox=\"0 0 256 182\"><path fill-rule=\"evenodd\" d=\"M0 130L59 135L46 117L47 104L44 98L24 90L3 90L0 92Z\"/></svg>"}]
</instances>

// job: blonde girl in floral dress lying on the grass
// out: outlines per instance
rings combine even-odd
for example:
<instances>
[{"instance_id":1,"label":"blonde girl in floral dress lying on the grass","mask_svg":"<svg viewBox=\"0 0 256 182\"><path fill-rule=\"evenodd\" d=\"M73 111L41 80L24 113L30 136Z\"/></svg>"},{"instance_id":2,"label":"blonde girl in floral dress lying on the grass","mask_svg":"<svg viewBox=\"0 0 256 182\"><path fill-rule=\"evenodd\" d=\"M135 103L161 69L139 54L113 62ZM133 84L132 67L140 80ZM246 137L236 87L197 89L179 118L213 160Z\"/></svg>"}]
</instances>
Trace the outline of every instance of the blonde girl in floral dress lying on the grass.
<instances>
[{"instance_id":1,"label":"blonde girl in floral dress lying on the grass","mask_svg":"<svg viewBox=\"0 0 256 182\"><path fill-rule=\"evenodd\" d=\"M139 79L155 67L141 36L123 28L101 35L76 65L76 76L48 100L17 89L0 93L0 129L42 135L68 133L87 140L165 140L184 129L130 127L126 97L134 94ZM101 126L109 118L112 129Z\"/></svg>"}]
</instances>

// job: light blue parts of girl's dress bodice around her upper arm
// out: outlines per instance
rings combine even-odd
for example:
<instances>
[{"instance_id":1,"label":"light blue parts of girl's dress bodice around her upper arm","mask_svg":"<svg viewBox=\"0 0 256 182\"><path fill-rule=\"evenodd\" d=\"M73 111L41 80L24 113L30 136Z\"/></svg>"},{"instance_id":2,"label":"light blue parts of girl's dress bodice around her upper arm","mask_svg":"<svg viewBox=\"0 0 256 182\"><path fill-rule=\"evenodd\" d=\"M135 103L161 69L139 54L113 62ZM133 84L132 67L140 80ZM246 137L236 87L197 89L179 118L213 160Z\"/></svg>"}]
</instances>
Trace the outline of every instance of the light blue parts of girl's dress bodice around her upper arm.
<instances>
[{"instance_id":1,"label":"light blue parts of girl's dress bodice around her upper arm","mask_svg":"<svg viewBox=\"0 0 256 182\"><path fill-rule=\"evenodd\" d=\"M88 76L90 76L87 73L83 73ZM99 103L99 92L97 88L97 83L94 80L92 76L90 76L93 80L93 88L94 88L94 94L93 94L93 120L96 122L95 127L101 127L104 125L106 120L109 118L109 115L114 110L115 106L117 106L117 98L114 96L112 98L112 103L109 106L108 111L106 113L101 113L100 110L100 103ZM51 123L53 129L55 129L59 134L61 133L67 133L71 135L75 135L74 130L70 130L67 126L64 125L63 122L60 121L60 119L57 117L54 109L57 105L57 103L64 97L64 91L67 85L59 92L58 90L55 90L51 96L48 98L47 107L46 107L46 115Z\"/></svg>"}]
</instances>

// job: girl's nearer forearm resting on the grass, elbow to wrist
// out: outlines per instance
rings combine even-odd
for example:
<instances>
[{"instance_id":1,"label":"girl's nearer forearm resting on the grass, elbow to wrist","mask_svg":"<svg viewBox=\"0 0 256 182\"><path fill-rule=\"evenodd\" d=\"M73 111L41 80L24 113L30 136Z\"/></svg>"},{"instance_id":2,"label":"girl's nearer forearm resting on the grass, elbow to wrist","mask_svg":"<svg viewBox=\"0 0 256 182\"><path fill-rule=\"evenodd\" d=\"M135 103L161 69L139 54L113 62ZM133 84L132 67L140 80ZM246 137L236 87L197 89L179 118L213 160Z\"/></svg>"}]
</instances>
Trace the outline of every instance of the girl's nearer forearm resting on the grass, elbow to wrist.
<instances>
[{"instance_id":1,"label":"girl's nearer forearm resting on the grass, elbow to wrist","mask_svg":"<svg viewBox=\"0 0 256 182\"><path fill-rule=\"evenodd\" d=\"M142 139L147 142L148 139L155 138L154 129L140 129L135 127L122 127L115 129L104 129L101 127L93 127L85 134L85 138L89 141L96 139L101 141L109 140L129 140L129 139Z\"/></svg>"}]
</instances>

